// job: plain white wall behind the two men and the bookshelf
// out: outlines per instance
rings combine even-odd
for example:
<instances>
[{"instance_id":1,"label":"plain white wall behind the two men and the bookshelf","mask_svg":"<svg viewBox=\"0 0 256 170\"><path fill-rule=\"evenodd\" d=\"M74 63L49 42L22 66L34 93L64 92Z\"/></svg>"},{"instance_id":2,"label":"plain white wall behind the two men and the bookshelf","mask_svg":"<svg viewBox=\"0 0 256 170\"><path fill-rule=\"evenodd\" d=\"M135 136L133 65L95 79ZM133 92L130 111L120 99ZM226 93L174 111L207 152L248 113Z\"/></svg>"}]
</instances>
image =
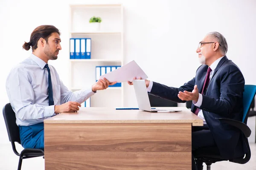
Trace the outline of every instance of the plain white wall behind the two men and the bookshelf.
<instances>
[{"instance_id":1,"label":"plain white wall behind the two men and the bookshelf","mask_svg":"<svg viewBox=\"0 0 256 170\"><path fill-rule=\"evenodd\" d=\"M9 101L5 82L10 69L29 57L22 49L39 25L61 31L62 50L55 66L68 85L69 3L122 3L124 6L125 63L135 59L148 79L179 87L195 76L199 66L198 42L210 31L227 39L227 57L244 74L246 84L256 84L255 0L1 0L0 1L0 108ZM125 106L137 106L132 86L125 84ZM0 143L8 137L0 116Z\"/></svg>"}]
</instances>

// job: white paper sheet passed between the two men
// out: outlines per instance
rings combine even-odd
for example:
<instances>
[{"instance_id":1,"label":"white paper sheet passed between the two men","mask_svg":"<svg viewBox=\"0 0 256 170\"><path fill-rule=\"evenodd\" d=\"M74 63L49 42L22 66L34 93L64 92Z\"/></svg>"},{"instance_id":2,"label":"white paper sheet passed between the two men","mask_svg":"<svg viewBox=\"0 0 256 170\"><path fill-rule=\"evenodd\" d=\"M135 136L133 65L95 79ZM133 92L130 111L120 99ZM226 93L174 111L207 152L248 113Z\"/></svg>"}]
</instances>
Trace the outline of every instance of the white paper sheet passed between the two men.
<instances>
[{"instance_id":1,"label":"white paper sheet passed between the two men","mask_svg":"<svg viewBox=\"0 0 256 170\"><path fill-rule=\"evenodd\" d=\"M100 76L100 79L104 77L108 79L109 82L132 82L134 77L141 77L142 79L148 78L134 60L108 74Z\"/></svg>"}]
</instances>

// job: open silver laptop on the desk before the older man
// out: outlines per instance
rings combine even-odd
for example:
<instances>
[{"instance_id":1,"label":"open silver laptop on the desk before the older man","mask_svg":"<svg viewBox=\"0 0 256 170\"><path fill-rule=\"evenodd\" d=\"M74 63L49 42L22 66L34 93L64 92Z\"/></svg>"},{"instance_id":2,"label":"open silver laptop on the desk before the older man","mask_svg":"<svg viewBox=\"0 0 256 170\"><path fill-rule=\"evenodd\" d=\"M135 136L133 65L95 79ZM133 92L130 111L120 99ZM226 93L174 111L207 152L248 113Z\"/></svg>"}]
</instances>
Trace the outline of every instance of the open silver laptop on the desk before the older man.
<instances>
[{"instance_id":1,"label":"open silver laptop on the desk before the older man","mask_svg":"<svg viewBox=\"0 0 256 170\"><path fill-rule=\"evenodd\" d=\"M149 112L180 112L182 111L180 109L175 109L175 110L151 109L145 80L134 79L133 84L134 84L134 91L136 94L136 98L137 98L137 102L140 110L149 111Z\"/></svg>"}]
</instances>

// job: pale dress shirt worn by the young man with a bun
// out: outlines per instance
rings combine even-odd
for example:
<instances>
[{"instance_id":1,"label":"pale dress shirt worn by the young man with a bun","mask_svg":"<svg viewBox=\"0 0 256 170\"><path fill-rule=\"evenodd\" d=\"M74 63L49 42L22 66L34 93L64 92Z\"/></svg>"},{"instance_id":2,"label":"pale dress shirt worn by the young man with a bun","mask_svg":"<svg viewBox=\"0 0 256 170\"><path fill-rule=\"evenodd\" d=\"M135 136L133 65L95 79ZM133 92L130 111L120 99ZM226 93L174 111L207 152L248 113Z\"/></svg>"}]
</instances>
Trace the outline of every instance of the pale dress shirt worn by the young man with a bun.
<instances>
[{"instance_id":1,"label":"pale dress shirt worn by the young man with a bun","mask_svg":"<svg viewBox=\"0 0 256 170\"><path fill-rule=\"evenodd\" d=\"M54 105L73 101L82 103L95 94L91 89L71 92L49 65L52 79L54 105L49 106L48 71L46 63L34 54L10 71L6 80L9 102L16 115L16 124L22 126L44 122L54 116Z\"/></svg>"}]
</instances>

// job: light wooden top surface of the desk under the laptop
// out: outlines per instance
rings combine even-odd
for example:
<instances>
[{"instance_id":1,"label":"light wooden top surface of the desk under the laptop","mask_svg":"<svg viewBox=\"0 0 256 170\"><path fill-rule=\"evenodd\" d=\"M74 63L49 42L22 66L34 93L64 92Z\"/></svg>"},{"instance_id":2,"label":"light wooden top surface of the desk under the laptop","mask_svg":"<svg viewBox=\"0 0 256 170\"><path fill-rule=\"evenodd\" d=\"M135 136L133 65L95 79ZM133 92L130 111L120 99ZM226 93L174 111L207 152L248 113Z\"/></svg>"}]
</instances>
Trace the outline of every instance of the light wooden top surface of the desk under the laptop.
<instances>
[{"instance_id":1,"label":"light wooden top surface of the desk under the laptop","mask_svg":"<svg viewBox=\"0 0 256 170\"><path fill-rule=\"evenodd\" d=\"M175 109L175 107L160 109ZM203 119L186 107L179 109L182 111L156 113L115 108L80 108L78 112L61 113L45 119L44 123L192 123L193 126L203 126Z\"/></svg>"}]
</instances>

